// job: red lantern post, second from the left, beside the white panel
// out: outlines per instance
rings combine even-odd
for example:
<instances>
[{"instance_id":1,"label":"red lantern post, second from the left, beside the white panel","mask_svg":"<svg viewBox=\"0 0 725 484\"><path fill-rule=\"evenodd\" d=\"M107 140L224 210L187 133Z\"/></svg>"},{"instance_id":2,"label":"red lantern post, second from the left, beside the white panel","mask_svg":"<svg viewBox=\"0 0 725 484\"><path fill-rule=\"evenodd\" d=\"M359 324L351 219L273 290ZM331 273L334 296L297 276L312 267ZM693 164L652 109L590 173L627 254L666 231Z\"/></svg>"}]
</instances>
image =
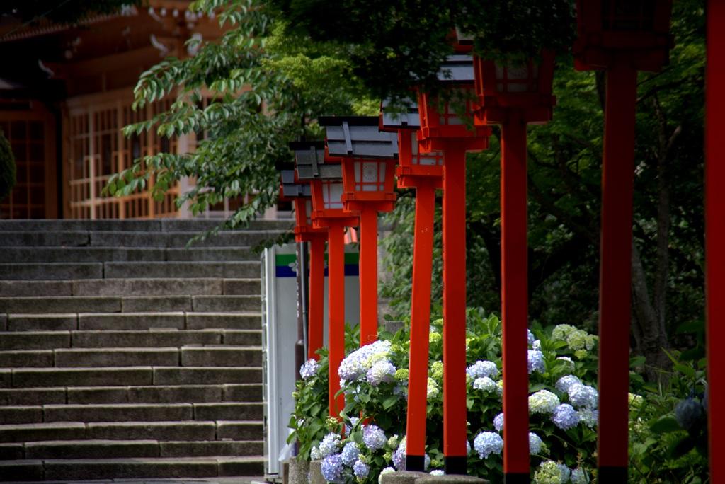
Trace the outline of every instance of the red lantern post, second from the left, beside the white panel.
<instances>
[{"instance_id":1,"label":"red lantern post, second from the left, beside the white panel","mask_svg":"<svg viewBox=\"0 0 725 484\"><path fill-rule=\"evenodd\" d=\"M328 369L329 411L338 417L345 407L345 397L335 394L340 390L337 369L345 356L345 230L341 225L328 228Z\"/></svg>"}]
</instances>

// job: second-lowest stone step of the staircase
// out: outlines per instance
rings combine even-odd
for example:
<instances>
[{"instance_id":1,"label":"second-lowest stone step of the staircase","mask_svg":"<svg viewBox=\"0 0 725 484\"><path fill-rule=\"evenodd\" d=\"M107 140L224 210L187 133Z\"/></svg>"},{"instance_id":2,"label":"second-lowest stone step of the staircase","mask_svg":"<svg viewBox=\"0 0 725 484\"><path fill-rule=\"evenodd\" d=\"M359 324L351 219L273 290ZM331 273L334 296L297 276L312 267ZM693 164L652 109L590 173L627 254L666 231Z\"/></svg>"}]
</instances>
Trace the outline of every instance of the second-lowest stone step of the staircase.
<instances>
[{"instance_id":1,"label":"second-lowest stone step of the staircase","mask_svg":"<svg viewBox=\"0 0 725 484\"><path fill-rule=\"evenodd\" d=\"M260 441L40 441L0 444L0 460L260 456Z\"/></svg>"}]
</instances>

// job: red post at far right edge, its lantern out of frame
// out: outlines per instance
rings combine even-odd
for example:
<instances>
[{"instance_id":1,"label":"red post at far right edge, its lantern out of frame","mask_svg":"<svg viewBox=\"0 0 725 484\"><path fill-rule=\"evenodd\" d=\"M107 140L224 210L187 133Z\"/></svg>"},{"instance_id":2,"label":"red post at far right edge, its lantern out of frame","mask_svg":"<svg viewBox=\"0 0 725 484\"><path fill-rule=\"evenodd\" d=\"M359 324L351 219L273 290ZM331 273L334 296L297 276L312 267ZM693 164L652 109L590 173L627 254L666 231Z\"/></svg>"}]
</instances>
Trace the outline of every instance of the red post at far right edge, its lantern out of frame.
<instances>
[{"instance_id":1,"label":"red post at far right edge, its lantern out of frame","mask_svg":"<svg viewBox=\"0 0 725 484\"><path fill-rule=\"evenodd\" d=\"M725 483L725 2L708 1L708 63L705 98L705 299L708 341L708 443L710 481Z\"/></svg>"}]
</instances>

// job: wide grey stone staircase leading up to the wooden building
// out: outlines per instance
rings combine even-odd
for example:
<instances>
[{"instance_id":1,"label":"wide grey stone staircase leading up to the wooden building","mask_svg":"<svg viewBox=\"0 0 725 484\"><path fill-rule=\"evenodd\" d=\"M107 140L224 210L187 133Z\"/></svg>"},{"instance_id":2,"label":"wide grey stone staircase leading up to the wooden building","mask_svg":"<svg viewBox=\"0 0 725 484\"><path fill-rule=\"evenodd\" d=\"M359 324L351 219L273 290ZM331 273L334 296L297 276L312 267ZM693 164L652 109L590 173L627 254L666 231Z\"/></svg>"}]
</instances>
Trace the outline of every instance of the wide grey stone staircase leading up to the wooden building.
<instances>
[{"instance_id":1,"label":"wide grey stone staircase leading up to the wooden building","mask_svg":"<svg viewBox=\"0 0 725 484\"><path fill-rule=\"evenodd\" d=\"M262 475L254 222L0 221L0 481Z\"/></svg>"}]
</instances>

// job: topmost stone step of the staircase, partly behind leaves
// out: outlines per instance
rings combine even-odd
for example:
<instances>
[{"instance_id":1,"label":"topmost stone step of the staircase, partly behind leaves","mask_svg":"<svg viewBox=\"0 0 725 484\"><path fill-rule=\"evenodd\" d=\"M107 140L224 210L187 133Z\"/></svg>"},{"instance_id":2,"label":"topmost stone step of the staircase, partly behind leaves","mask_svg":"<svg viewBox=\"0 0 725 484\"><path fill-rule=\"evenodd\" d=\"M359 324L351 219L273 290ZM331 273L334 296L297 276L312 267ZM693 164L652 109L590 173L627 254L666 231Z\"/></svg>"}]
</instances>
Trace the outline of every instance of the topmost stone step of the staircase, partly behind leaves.
<instances>
[{"instance_id":1,"label":"topmost stone step of the staircase, partly behind leaves","mask_svg":"<svg viewBox=\"0 0 725 484\"><path fill-rule=\"evenodd\" d=\"M0 220L0 232L63 232L63 231L133 231L133 232L203 232L220 225L221 220L156 219L156 220ZM292 220L252 220L251 230L290 230Z\"/></svg>"}]
</instances>

